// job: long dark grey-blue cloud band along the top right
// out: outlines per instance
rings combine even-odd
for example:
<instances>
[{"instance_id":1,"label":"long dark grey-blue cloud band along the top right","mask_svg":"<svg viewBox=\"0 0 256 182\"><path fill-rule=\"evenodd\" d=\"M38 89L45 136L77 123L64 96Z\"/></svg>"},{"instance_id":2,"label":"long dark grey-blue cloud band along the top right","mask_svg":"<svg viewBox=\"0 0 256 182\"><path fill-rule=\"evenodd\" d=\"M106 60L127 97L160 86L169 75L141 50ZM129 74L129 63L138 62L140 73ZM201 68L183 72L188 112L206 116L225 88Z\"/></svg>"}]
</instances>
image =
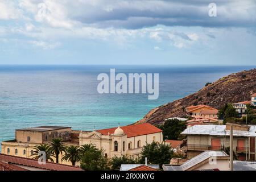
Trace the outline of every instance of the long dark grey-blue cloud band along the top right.
<instances>
[{"instance_id":1,"label":"long dark grey-blue cloud band along the top right","mask_svg":"<svg viewBox=\"0 0 256 182\"><path fill-rule=\"evenodd\" d=\"M95 0L97 1L97 0ZM164 26L255 27L256 1L216 0L217 17L210 17L208 0L100 1L75 5L70 18L95 27L143 28ZM102 3L106 2L106 3Z\"/></svg>"}]
</instances>

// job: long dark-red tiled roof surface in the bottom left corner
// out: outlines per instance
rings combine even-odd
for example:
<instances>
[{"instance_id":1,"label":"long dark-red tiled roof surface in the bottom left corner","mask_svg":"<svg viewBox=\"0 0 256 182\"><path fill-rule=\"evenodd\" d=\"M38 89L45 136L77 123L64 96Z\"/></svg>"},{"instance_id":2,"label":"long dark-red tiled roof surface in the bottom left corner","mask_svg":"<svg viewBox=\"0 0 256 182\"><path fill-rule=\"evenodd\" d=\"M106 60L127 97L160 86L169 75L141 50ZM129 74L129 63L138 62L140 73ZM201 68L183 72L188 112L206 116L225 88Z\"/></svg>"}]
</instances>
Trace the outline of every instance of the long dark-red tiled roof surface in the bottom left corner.
<instances>
[{"instance_id":1,"label":"long dark-red tiled roof surface in the bottom left corner","mask_svg":"<svg viewBox=\"0 0 256 182\"><path fill-rule=\"evenodd\" d=\"M73 167L65 164L57 164L52 162L46 162L46 164L39 164L38 160L35 159L21 158L5 154L0 154L0 162L18 164L20 167L32 167L51 171L83 171L79 167Z\"/></svg>"}]
</instances>

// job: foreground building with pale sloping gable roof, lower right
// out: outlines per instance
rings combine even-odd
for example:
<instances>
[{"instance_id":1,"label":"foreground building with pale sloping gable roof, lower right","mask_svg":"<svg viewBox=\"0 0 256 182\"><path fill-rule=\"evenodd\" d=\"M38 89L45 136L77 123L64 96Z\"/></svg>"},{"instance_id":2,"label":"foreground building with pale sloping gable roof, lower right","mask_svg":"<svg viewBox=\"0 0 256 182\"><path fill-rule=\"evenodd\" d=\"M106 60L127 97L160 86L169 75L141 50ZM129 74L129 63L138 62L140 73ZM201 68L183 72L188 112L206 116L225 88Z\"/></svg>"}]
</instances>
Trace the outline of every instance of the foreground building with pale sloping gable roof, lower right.
<instances>
[{"instance_id":1,"label":"foreground building with pale sloping gable roof, lower right","mask_svg":"<svg viewBox=\"0 0 256 182\"><path fill-rule=\"evenodd\" d=\"M229 156L224 151L204 151L181 165L163 165L164 171L229 171Z\"/></svg>"}]
</instances>

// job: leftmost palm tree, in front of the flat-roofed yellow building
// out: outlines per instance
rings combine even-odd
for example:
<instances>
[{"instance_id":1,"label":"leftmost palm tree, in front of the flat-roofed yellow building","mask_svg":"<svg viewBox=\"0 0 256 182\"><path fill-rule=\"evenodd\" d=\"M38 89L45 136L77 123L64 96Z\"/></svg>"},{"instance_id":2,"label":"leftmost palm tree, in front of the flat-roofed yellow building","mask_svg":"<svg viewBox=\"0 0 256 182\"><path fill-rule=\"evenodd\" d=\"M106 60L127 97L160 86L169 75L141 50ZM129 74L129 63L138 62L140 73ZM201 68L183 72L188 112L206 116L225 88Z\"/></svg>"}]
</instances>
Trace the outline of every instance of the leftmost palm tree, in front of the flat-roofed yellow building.
<instances>
[{"instance_id":1,"label":"leftmost palm tree, in front of the flat-roofed yellow building","mask_svg":"<svg viewBox=\"0 0 256 182\"><path fill-rule=\"evenodd\" d=\"M53 162L53 159L51 158L53 156L51 148L48 144L39 144L35 147L33 147L34 151L31 152L32 154L30 156L34 156L33 159L39 159L41 152L46 152L46 161L51 160Z\"/></svg>"}]
</instances>

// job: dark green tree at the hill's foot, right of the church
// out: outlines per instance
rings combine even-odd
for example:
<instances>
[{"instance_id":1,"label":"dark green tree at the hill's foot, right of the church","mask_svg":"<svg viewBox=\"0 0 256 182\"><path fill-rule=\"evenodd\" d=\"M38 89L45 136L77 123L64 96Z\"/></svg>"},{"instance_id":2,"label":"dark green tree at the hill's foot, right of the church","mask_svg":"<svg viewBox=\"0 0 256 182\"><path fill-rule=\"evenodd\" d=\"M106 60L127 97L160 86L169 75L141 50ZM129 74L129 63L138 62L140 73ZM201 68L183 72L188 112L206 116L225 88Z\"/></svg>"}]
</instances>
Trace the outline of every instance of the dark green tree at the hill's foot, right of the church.
<instances>
[{"instance_id":1,"label":"dark green tree at the hill's foot, right of the church","mask_svg":"<svg viewBox=\"0 0 256 182\"><path fill-rule=\"evenodd\" d=\"M163 125L158 126L163 130L164 139L179 140L184 139L180 133L187 128L185 121L178 119L168 119Z\"/></svg>"}]
</instances>

